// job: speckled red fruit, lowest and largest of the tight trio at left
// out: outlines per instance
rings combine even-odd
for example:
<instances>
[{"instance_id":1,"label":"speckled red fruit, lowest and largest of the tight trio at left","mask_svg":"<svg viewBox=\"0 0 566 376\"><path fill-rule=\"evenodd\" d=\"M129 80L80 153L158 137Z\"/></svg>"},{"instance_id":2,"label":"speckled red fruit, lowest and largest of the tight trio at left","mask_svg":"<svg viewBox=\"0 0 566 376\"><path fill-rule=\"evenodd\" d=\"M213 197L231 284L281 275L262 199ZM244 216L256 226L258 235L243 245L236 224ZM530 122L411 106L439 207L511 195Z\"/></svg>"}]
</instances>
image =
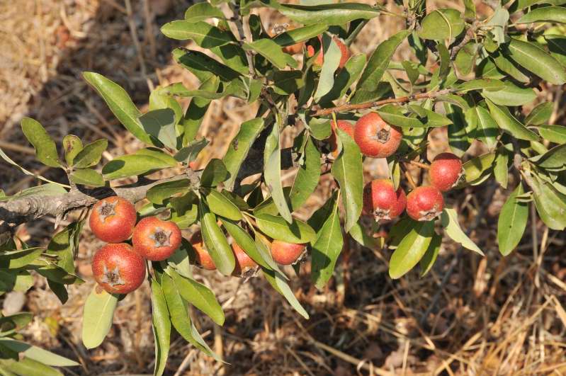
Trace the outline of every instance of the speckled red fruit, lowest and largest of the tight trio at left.
<instances>
[{"instance_id":1,"label":"speckled red fruit, lowest and largest of the tight trio at left","mask_svg":"<svg viewBox=\"0 0 566 376\"><path fill-rule=\"evenodd\" d=\"M130 244L106 244L92 258L92 274L96 283L111 294L128 294L142 285L145 261Z\"/></svg>"}]
</instances>

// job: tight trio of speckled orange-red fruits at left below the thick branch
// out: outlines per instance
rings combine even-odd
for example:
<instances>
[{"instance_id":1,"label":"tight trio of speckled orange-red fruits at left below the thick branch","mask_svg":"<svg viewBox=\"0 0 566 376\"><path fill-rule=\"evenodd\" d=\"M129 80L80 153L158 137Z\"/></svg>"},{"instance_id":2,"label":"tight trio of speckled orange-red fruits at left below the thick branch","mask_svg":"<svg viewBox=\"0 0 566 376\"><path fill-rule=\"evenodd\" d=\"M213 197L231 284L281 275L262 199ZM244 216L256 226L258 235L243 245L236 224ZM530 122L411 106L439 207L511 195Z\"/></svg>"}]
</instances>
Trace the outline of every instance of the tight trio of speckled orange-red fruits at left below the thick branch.
<instances>
[{"instance_id":1,"label":"tight trio of speckled orange-red fruits at left below the thick branch","mask_svg":"<svg viewBox=\"0 0 566 376\"><path fill-rule=\"evenodd\" d=\"M145 279L145 260L169 258L181 244L175 222L145 217L136 224L135 207L118 196L104 198L92 208L91 230L106 246L92 259L94 279L112 294L127 294ZM132 244L124 243L132 237Z\"/></svg>"}]
</instances>

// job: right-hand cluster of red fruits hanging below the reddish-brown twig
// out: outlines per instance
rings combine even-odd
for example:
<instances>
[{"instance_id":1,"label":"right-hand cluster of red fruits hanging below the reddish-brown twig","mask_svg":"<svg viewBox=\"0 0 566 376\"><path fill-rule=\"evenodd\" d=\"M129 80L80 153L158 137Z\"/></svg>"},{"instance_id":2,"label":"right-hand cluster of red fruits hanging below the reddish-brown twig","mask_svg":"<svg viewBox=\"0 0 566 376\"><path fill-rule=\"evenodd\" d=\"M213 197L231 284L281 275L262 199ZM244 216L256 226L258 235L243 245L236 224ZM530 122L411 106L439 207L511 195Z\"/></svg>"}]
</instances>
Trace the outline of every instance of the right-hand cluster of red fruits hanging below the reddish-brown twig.
<instances>
[{"instance_id":1,"label":"right-hand cluster of red fruits hanging below the reddish-brown twig","mask_svg":"<svg viewBox=\"0 0 566 376\"><path fill-rule=\"evenodd\" d=\"M394 154L401 144L400 128L388 125L377 113L368 113L358 119L356 125L346 120L332 122L334 129L329 139L336 155L335 129L346 132L354 139L361 152L373 158L386 158ZM414 188L405 195L403 188L395 190L390 179L377 179L363 189L363 212L373 215L376 221L392 220L407 208L407 214L417 221L434 220L444 207L442 192L451 190L464 176L462 161L452 153L438 154L429 168L431 186Z\"/></svg>"}]
</instances>

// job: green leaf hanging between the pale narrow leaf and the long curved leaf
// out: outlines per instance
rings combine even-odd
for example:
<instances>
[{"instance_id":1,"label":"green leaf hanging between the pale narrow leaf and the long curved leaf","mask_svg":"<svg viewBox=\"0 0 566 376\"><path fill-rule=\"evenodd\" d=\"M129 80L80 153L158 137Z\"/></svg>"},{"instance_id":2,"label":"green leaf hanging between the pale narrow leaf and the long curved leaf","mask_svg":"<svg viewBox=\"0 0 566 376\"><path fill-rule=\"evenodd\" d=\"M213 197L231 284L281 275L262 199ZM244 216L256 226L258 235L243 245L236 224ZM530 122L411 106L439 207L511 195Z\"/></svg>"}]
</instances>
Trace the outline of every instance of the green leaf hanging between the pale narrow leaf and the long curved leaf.
<instances>
[{"instance_id":1,"label":"green leaf hanging between the pale narrow leaf and the long curved leaf","mask_svg":"<svg viewBox=\"0 0 566 376\"><path fill-rule=\"evenodd\" d=\"M302 159L303 163L299 166L289 193L293 210L297 210L307 201L317 188L320 178L320 152L310 137L307 137Z\"/></svg>"}]
</instances>

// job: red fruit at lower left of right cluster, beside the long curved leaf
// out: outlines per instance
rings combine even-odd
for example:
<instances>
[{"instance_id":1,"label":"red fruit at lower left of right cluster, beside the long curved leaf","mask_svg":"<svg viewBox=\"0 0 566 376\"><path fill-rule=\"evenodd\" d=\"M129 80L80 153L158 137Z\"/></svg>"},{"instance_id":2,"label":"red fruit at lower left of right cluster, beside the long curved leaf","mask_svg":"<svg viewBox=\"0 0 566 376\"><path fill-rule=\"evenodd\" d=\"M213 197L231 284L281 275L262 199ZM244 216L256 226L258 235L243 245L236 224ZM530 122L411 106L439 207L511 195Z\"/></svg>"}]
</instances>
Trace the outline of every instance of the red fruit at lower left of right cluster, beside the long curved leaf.
<instances>
[{"instance_id":1,"label":"red fruit at lower left of right cluster, beside the long curved leaf","mask_svg":"<svg viewBox=\"0 0 566 376\"><path fill-rule=\"evenodd\" d=\"M401 215L407 205L403 188L397 188L390 179L377 179L363 188L363 212L373 215L375 221L392 220Z\"/></svg>"}]
</instances>

